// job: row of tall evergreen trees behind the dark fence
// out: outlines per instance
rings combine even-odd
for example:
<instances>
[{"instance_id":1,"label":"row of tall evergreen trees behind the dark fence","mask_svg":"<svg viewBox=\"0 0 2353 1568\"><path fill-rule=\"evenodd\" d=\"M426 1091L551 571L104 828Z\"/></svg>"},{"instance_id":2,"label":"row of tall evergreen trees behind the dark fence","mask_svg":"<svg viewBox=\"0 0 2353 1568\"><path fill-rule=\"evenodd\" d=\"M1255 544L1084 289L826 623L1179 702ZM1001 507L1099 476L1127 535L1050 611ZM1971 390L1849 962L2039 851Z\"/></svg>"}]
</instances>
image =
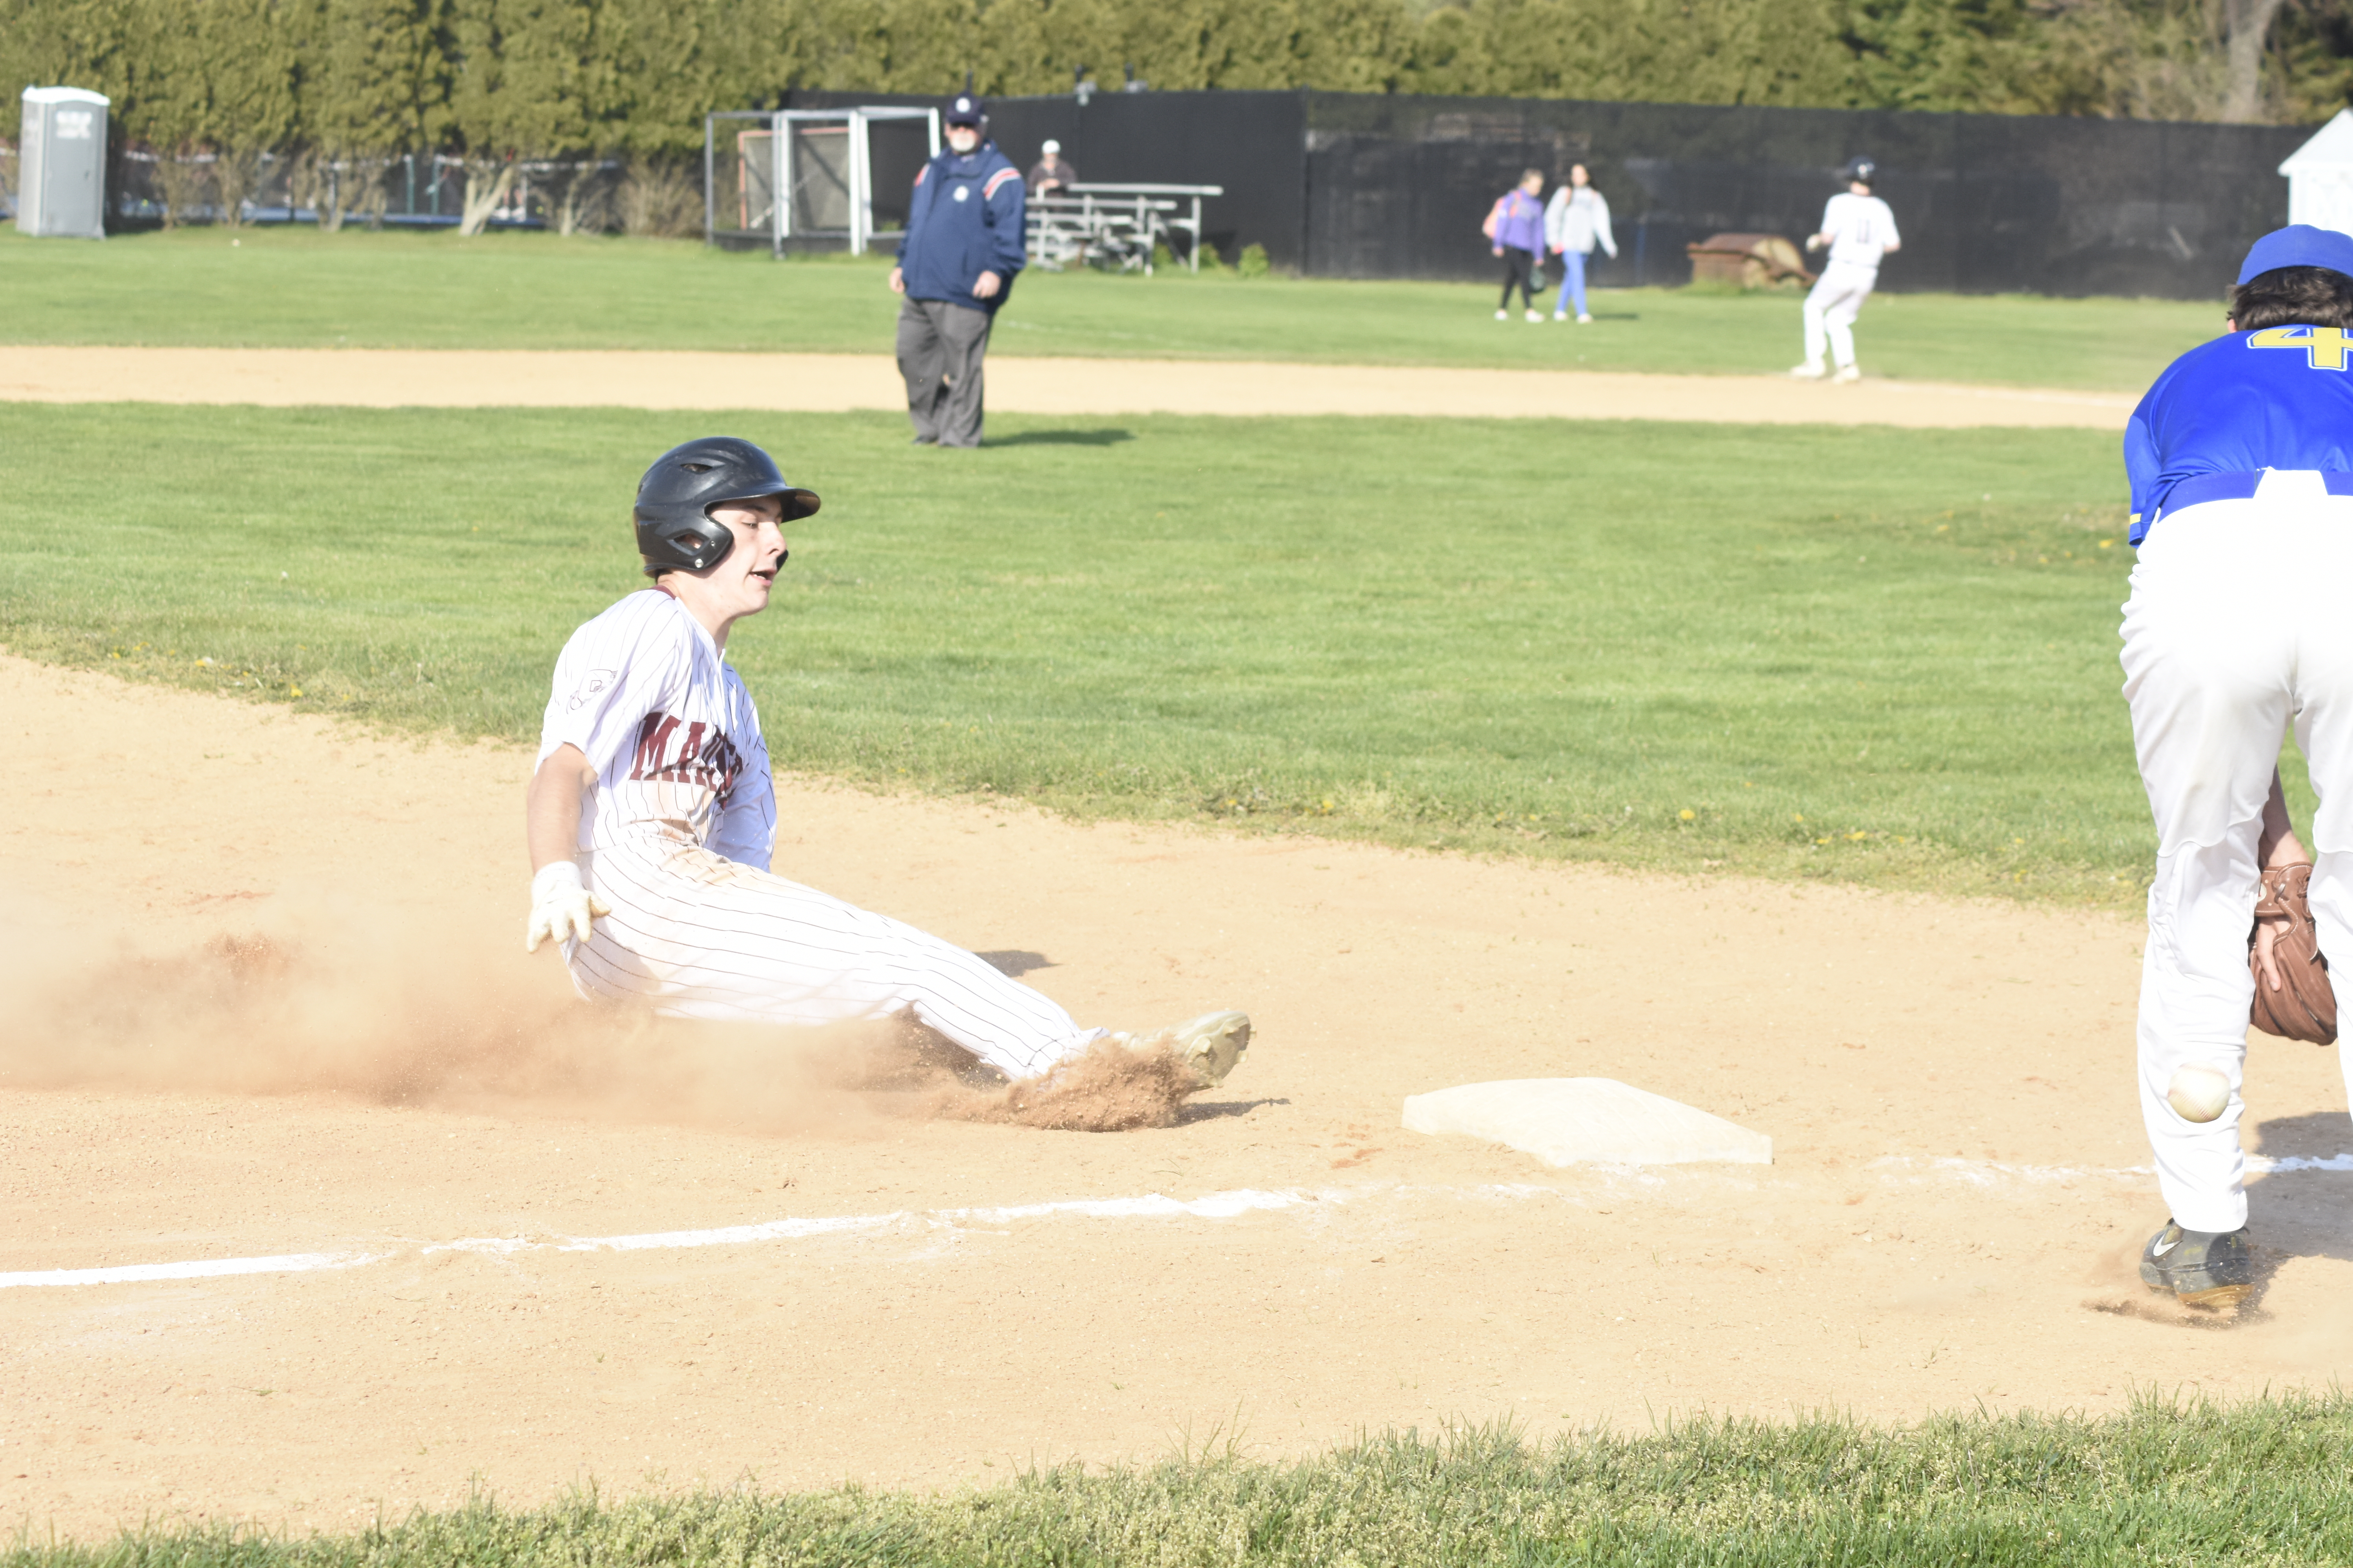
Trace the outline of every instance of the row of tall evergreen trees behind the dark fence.
<instances>
[{"instance_id":1,"label":"row of tall evergreen trees behind the dark fence","mask_svg":"<svg viewBox=\"0 0 2353 1568\"><path fill-rule=\"evenodd\" d=\"M1320 87L2179 120L2353 99L2353 0L0 0L0 89L94 87L186 212L264 150L332 174L459 153L682 162L793 87ZM205 162L174 162L205 160ZM209 193L191 186L209 169ZM341 176L320 174L322 212ZM320 183L325 181L325 183ZM574 214L572 193L562 212Z\"/></svg>"}]
</instances>

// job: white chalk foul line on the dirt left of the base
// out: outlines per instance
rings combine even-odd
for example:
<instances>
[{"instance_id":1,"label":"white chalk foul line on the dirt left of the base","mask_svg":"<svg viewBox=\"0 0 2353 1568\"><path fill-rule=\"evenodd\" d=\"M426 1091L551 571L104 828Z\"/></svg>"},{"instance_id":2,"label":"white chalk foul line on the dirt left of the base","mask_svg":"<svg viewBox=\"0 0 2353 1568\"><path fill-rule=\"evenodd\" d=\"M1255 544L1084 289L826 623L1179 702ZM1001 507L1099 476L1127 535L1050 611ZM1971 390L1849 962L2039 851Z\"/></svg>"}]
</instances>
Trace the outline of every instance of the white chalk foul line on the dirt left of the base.
<instances>
[{"instance_id":1,"label":"white chalk foul line on the dirt left of the base","mask_svg":"<svg viewBox=\"0 0 2353 1568\"><path fill-rule=\"evenodd\" d=\"M894 1225L934 1225L955 1229L962 1225L1009 1225L1014 1220L1233 1220L1266 1208L1299 1208L1301 1204L1346 1201L1339 1192L1259 1192L1242 1187L1235 1192L1212 1192L1191 1201L1146 1192L1129 1199L1064 1199L1056 1204L1014 1204L1005 1208L899 1208L871 1215L824 1215L807 1220L769 1220L765 1225L720 1225L715 1229L656 1229L635 1237L551 1237L534 1241L527 1237L466 1237L426 1246L426 1253L642 1253L687 1246L748 1246L755 1241L800 1241L805 1237L845 1237L892 1229ZM0 1291L24 1286L118 1286L160 1279L219 1279L224 1274L313 1274L320 1269L358 1269L369 1262L388 1262L400 1253L282 1253L275 1258L207 1258L198 1262L132 1262L111 1269L28 1269L0 1274Z\"/></svg>"}]
</instances>

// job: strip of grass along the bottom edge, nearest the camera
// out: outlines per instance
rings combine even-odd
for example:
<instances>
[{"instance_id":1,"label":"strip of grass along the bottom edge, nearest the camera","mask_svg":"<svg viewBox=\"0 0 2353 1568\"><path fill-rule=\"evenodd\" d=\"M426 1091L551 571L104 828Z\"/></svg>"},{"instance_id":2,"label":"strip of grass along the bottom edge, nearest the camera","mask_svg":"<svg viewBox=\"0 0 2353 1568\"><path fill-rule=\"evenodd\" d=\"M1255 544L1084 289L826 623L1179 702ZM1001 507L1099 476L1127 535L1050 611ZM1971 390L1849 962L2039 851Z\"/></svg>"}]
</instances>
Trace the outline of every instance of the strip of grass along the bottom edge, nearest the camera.
<instances>
[{"instance_id":1,"label":"strip of grass along the bottom edge, nearest the camera","mask_svg":"<svg viewBox=\"0 0 2353 1568\"><path fill-rule=\"evenodd\" d=\"M527 1512L478 1500L308 1540L151 1526L89 1547L24 1542L0 1549L0 1568L2344 1563L2348 1443L2341 1394L1897 1429L1699 1420L1541 1446L1464 1429L1299 1465L1221 1453L944 1495L741 1488Z\"/></svg>"}]
</instances>

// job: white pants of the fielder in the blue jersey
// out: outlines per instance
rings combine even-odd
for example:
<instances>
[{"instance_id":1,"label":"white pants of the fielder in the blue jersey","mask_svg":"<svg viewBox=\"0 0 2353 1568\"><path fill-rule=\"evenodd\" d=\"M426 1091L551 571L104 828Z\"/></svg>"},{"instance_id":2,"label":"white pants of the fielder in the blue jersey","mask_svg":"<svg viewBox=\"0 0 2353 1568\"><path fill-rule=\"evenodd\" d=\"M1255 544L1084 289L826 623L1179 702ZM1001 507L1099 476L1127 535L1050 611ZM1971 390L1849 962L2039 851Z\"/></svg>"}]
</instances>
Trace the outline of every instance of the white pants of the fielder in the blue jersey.
<instances>
[{"instance_id":1,"label":"white pants of the fielder in the blue jersey","mask_svg":"<svg viewBox=\"0 0 2353 1568\"><path fill-rule=\"evenodd\" d=\"M2141 1119L2158 1187L2188 1229L2247 1222L2238 1140L2247 1060L2247 931L2257 839L2280 733L2294 724L2320 809L2313 924L2339 1006L2353 966L2353 496L2318 473L2271 473L2249 501L2165 515L2141 541L2125 604L2125 703L2158 825L2141 954ZM2353 1013L2348 1013L2353 1016ZM2165 1091L2184 1065L2231 1079L2231 1105L2184 1121ZM2339 1046L2353 1091L2353 1056Z\"/></svg>"}]
</instances>

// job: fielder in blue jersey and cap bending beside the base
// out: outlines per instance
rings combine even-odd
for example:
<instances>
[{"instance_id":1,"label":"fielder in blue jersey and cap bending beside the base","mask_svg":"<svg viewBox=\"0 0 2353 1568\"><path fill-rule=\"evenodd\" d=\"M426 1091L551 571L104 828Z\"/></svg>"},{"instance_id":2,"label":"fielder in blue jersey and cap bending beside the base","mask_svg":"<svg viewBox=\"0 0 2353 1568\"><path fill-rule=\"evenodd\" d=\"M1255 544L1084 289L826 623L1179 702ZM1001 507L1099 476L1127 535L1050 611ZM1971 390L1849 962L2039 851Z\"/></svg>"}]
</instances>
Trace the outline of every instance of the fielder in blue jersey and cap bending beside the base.
<instances>
[{"instance_id":1,"label":"fielder in blue jersey and cap bending beside the base","mask_svg":"<svg viewBox=\"0 0 2353 1568\"><path fill-rule=\"evenodd\" d=\"M2353 237L2257 240L2228 327L2174 360L2125 430L2141 552L2125 701L2158 827L2139 1088L2172 1208L2141 1279L2188 1305L2235 1305L2257 1279L2238 1121L2249 926L2278 983L2278 917L2254 919L2259 893L2278 905L2268 882L2308 875L2320 952L2332 973L2353 964ZM2320 797L2318 858L2280 795L2287 726Z\"/></svg>"}]
</instances>

